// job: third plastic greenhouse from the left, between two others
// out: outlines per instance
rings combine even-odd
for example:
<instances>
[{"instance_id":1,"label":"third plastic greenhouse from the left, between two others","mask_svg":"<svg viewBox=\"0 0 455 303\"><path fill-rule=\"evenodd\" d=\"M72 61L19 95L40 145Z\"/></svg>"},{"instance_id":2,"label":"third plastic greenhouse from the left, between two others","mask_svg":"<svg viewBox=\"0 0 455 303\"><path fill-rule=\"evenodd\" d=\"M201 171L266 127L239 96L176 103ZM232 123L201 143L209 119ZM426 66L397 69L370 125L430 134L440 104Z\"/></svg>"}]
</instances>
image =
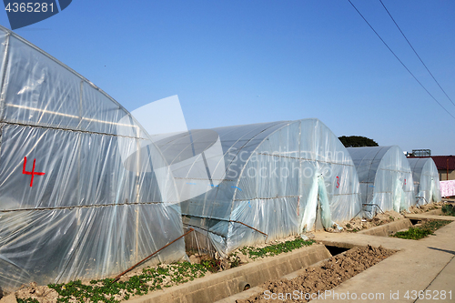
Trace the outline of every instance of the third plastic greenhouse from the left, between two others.
<instances>
[{"instance_id":1,"label":"third plastic greenhouse from the left, between two others","mask_svg":"<svg viewBox=\"0 0 455 303\"><path fill-rule=\"evenodd\" d=\"M349 147L359 175L363 210L399 212L415 204L410 163L399 146Z\"/></svg>"}]
</instances>

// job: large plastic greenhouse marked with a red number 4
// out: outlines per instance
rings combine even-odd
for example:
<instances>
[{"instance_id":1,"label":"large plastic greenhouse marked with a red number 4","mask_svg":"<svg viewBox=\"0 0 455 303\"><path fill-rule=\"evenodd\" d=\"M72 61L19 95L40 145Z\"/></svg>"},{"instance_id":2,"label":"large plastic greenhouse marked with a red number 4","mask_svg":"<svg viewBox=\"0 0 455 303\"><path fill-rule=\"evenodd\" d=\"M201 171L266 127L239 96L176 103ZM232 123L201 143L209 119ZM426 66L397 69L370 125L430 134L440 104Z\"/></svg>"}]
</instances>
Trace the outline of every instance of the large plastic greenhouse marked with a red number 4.
<instances>
[{"instance_id":1,"label":"large plastic greenhouse marked with a red number 4","mask_svg":"<svg viewBox=\"0 0 455 303\"><path fill-rule=\"evenodd\" d=\"M0 287L105 278L181 236L167 163L126 109L4 27L0 40ZM182 238L151 262L185 256Z\"/></svg>"}]
</instances>

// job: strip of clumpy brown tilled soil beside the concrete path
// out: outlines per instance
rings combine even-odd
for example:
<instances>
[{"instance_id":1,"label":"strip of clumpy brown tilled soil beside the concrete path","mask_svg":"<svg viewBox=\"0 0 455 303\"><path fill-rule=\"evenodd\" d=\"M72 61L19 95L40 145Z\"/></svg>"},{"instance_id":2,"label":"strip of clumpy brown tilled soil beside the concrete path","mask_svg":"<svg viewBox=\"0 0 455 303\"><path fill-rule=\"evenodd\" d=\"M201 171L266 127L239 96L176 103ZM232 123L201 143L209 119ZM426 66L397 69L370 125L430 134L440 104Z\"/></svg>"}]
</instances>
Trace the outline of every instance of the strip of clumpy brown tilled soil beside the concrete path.
<instances>
[{"instance_id":1,"label":"strip of clumpy brown tilled soil beside the concrete path","mask_svg":"<svg viewBox=\"0 0 455 303\"><path fill-rule=\"evenodd\" d=\"M355 247L344 254L340 254L323 262L318 267L309 267L305 273L298 278L286 279L280 278L264 283L261 287L276 294L292 294L298 290L304 294L312 294L324 292L331 288L335 288L342 282L359 274L363 270L372 267L379 263L384 258L388 258L394 254L394 250L384 247ZM278 297L279 298L279 297ZM308 302L308 299L293 300L278 299L280 302ZM264 293L258 296L252 296L248 299L237 300L238 303L252 302L269 302L273 299L266 299Z\"/></svg>"}]
</instances>

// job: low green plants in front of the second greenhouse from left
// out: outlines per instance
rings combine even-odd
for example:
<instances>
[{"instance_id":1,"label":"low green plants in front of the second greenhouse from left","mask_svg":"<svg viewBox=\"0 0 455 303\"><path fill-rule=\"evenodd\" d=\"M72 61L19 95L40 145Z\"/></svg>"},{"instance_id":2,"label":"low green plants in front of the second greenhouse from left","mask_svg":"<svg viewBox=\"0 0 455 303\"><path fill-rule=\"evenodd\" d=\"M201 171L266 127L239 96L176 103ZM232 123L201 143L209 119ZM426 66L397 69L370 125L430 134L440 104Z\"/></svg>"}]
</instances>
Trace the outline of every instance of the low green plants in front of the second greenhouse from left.
<instances>
[{"instance_id":1,"label":"low green plants in front of the second greenhouse from left","mask_svg":"<svg viewBox=\"0 0 455 303\"><path fill-rule=\"evenodd\" d=\"M268 247L243 247L240 248L239 250L244 254L245 256L248 256L248 258L264 258L264 257L269 257L269 256L277 256L278 254L281 253L286 253L289 251L292 251L294 249L300 248L300 247L308 247L312 245L313 243L316 243L315 240L304 240L302 238L297 238L292 241L286 241L283 243L278 243L274 245L270 245Z\"/></svg>"}]
</instances>

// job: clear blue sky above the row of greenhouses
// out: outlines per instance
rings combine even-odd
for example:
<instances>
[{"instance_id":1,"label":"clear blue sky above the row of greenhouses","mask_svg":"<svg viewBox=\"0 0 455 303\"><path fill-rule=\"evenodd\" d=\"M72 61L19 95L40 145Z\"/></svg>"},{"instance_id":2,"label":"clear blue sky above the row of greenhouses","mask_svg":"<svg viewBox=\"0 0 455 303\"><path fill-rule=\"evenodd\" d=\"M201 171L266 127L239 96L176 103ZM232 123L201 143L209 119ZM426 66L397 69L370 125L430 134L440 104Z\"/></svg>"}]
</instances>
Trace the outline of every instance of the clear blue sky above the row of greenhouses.
<instances>
[{"instance_id":1,"label":"clear blue sky above the row of greenhouses","mask_svg":"<svg viewBox=\"0 0 455 303\"><path fill-rule=\"evenodd\" d=\"M379 0L352 2L455 116ZM455 102L455 2L383 3ZM73 0L15 33L128 110L178 95L189 128L317 117L337 136L455 154L455 119L348 0Z\"/></svg>"}]
</instances>

